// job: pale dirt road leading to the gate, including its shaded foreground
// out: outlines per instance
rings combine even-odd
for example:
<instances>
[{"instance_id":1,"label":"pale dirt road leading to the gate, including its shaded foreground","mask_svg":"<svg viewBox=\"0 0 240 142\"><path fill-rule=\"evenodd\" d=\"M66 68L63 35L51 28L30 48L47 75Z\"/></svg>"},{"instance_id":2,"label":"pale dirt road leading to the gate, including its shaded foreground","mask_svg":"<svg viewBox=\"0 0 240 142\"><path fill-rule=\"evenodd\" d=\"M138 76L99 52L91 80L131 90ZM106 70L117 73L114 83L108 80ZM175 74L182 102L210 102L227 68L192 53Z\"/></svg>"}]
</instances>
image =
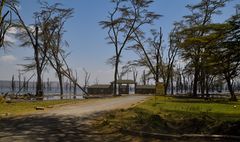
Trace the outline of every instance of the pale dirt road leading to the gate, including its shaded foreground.
<instances>
[{"instance_id":1,"label":"pale dirt road leading to the gate, including its shaded foreground","mask_svg":"<svg viewBox=\"0 0 240 142\"><path fill-rule=\"evenodd\" d=\"M128 108L146 100L147 96L124 96L94 99L83 103L54 108L39 114L0 120L0 142L38 141L127 141L111 134L95 132L89 119L100 112Z\"/></svg>"}]
</instances>

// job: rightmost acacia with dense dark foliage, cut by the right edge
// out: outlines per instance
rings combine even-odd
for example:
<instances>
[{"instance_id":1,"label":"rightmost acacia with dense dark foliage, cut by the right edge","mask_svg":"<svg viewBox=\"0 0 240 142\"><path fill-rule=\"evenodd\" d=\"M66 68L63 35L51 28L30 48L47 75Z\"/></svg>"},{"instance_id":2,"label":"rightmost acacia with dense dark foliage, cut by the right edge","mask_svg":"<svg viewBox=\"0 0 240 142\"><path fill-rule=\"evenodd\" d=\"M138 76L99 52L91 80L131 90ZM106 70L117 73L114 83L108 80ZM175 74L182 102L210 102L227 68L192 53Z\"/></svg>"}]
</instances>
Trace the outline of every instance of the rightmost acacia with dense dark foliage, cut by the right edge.
<instances>
[{"instance_id":1,"label":"rightmost acacia with dense dark foliage, cut by the right edge","mask_svg":"<svg viewBox=\"0 0 240 142\"><path fill-rule=\"evenodd\" d=\"M223 24L209 25L211 39L207 48L206 65L214 75L226 80L232 101L237 97L234 93L233 80L239 75L240 68L240 16L237 13ZM215 40L214 40L215 39Z\"/></svg>"}]
</instances>

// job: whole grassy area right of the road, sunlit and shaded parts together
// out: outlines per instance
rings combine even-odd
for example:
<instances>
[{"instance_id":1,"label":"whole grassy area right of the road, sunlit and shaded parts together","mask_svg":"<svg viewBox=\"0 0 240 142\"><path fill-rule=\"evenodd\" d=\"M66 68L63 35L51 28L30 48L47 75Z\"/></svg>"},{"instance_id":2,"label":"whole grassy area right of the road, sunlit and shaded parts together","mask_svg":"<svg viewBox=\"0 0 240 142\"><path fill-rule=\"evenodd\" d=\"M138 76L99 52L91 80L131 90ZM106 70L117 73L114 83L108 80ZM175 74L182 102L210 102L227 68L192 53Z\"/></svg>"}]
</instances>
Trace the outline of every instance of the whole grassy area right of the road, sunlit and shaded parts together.
<instances>
[{"instance_id":1,"label":"whole grassy area right of the road, sunlit and shaded parts together","mask_svg":"<svg viewBox=\"0 0 240 142\"><path fill-rule=\"evenodd\" d=\"M98 131L121 128L163 134L240 135L240 103L157 96L134 108L108 112L96 126Z\"/></svg>"}]
</instances>

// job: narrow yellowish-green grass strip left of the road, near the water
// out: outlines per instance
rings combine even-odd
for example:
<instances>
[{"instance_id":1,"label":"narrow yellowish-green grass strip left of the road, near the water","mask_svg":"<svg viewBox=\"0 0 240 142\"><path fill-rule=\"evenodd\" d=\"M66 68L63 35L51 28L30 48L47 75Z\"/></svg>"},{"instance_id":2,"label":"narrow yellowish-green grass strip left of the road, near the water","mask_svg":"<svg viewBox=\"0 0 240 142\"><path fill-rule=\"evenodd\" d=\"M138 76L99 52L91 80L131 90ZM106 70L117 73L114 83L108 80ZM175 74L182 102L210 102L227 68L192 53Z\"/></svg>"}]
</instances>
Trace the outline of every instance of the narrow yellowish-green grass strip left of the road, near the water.
<instances>
[{"instance_id":1,"label":"narrow yellowish-green grass strip left of the road, near the water","mask_svg":"<svg viewBox=\"0 0 240 142\"><path fill-rule=\"evenodd\" d=\"M51 100L34 102L0 103L0 117L17 116L37 112L35 107L52 107L56 105L74 104L83 100Z\"/></svg>"}]
</instances>

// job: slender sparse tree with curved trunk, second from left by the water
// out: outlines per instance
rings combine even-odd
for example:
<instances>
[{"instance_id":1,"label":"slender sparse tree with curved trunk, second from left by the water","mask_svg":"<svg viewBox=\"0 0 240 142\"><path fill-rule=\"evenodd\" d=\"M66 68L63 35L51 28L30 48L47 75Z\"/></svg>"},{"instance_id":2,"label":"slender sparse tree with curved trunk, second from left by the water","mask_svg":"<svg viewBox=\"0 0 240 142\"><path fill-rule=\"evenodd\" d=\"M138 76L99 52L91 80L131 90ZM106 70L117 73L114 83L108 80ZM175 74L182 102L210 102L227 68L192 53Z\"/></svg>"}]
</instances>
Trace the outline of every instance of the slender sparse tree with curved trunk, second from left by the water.
<instances>
[{"instance_id":1,"label":"slender sparse tree with curved trunk, second from left by the water","mask_svg":"<svg viewBox=\"0 0 240 142\"><path fill-rule=\"evenodd\" d=\"M63 75L61 66L63 61L60 52L64 54L63 45L67 42L63 41L64 24L73 14L71 8L61 8L61 4L56 3L49 5L48 3L41 3L42 10L36 12L38 25L42 29L41 40L44 55L43 58L49 60L50 65L55 70L60 86L60 95L63 95ZM47 53L47 54L45 54ZM61 97L62 98L62 97Z\"/></svg>"}]
</instances>

